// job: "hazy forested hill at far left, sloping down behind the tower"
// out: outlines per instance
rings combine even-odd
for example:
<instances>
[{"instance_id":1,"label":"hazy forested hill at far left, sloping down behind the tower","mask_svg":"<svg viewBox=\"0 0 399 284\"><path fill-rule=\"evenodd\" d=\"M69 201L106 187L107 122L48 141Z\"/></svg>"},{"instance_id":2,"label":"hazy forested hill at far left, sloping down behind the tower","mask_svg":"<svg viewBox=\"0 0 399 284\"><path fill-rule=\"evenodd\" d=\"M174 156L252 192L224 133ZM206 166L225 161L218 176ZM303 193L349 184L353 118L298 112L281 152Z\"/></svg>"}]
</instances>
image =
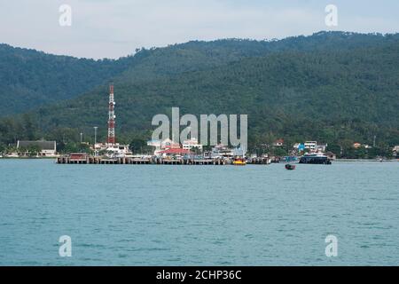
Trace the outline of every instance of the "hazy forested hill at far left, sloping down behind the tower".
<instances>
[{"instance_id":1,"label":"hazy forested hill at far left, sloping down behind the tower","mask_svg":"<svg viewBox=\"0 0 399 284\"><path fill-rule=\"evenodd\" d=\"M0 44L0 115L72 99L120 74L128 62L76 59Z\"/></svg>"}]
</instances>

